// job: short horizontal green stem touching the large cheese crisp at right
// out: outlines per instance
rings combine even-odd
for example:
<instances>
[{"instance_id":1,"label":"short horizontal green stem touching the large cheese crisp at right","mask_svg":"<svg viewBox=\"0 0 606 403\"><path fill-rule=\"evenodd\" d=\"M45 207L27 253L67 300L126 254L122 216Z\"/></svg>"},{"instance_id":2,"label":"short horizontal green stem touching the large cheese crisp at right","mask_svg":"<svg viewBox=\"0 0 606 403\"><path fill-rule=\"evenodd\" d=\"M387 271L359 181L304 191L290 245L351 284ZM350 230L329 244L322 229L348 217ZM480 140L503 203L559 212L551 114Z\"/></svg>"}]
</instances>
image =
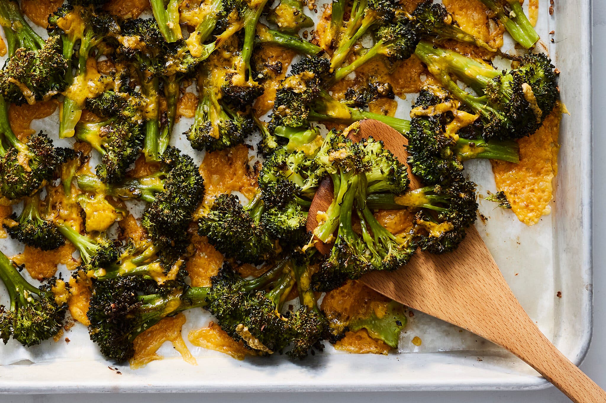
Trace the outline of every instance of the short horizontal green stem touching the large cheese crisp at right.
<instances>
[{"instance_id":1,"label":"short horizontal green stem touching the large cheese crisp at right","mask_svg":"<svg viewBox=\"0 0 606 403\"><path fill-rule=\"evenodd\" d=\"M454 153L461 161L487 158L516 164L520 162L519 146L516 141L484 141L481 138L476 140L459 138L456 141Z\"/></svg>"}]
</instances>

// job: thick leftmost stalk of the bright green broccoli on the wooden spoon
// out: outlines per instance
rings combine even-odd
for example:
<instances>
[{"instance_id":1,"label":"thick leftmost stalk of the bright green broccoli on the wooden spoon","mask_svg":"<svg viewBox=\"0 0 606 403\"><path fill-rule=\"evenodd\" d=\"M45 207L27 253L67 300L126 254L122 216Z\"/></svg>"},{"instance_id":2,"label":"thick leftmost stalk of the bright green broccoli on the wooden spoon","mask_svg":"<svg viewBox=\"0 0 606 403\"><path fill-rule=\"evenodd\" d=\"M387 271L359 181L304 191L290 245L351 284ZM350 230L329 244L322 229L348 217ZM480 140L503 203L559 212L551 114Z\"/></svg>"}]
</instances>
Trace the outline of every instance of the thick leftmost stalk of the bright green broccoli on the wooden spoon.
<instances>
[{"instance_id":1,"label":"thick leftmost stalk of the bright green broccoli on the wooden spoon","mask_svg":"<svg viewBox=\"0 0 606 403\"><path fill-rule=\"evenodd\" d=\"M327 218L313 230L313 234L324 243L330 243L337 228L339 228L340 233L342 225L345 225L343 221L344 214L349 214L351 221L351 207L349 208L349 212L344 210L346 210L346 205L353 205L353 196L356 193L358 183L358 179L354 181L355 176L356 173L353 171L330 175L331 179L333 179L333 187L335 189L333 194L335 196L326 211ZM354 182L355 185L353 184Z\"/></svg>"}]
</instances>

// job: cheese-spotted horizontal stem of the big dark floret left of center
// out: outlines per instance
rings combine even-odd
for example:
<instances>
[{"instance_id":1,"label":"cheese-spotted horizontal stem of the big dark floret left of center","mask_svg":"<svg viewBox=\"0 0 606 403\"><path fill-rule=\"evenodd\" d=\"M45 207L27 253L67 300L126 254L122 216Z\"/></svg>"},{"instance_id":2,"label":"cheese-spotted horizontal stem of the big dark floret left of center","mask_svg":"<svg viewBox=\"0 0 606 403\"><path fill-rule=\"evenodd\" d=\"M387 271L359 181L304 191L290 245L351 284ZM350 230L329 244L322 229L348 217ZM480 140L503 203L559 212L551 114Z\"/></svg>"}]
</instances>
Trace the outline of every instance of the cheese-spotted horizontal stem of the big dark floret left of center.
<instances>
[{"instance_id":1,"label":"cheese-spotted horizontal stem of the big dark floret left of center","mask_svg":"<svg viewBox=\"0 0 606 403\"><path fill-rule=\"evenodd\" d=\"M84 192L95 192L121 199L139 199L148 203L155 201L156 194L164 192L163 172L152 173L143 178L129 179L118 184L105 184L96 175L78 175L78 187Z\"/></svg>"}]
</instances>

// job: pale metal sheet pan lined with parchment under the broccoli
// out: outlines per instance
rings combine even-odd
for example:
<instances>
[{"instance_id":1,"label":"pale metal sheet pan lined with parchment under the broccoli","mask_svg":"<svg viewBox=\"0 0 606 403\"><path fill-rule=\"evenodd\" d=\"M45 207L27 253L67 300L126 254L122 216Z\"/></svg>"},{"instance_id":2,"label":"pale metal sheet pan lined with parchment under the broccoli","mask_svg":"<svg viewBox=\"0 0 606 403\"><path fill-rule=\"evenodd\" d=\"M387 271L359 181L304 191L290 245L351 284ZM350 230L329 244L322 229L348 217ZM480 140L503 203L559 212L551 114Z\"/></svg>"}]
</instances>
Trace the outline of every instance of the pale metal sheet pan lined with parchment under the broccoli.
<instances>
[{"instance_id":1,"label":"pale metal sheet pan lined with parchment under the broccoli","mask_svg":"<svg viewBox=\"0 0 606 403\"><path fill-rule=\"evenodd\" d=\"M570 112L562 120L552 213L536 226L525 227L510 211L481 202L480 209L489 219L486 224L479 222L478 230L524 309L556 347L578 364L591 338L590 2L557 2L553 16L547 12L548 1L539 2L537 29L562 72L562 100ZM554 34L549 35L552 30ZM401 102L402 117L407 116L413 98ZM57 122L53 115L35 121L32 127L52 130ZM202 155L196 155L178 135L189 124L179 122L173 143L199 162ZM467 170L479 184L479 192L494 191L487 161L473 161ZM16 253L22 247L2 239L0 248ZM558 291L561 298L556 297ZM0 290L0 296L3 293ZM184 334L210 318L193 312L187 317ZM118 374L108 369L110 363L87 340L83 326L67 335L72 340L67 345L49 341L48 346L25 350L11 341L0 346L0 392L528 390L548 385L510 353L418 313L402 335L400 353L349 355L328 346L327 353L298 363L284 356L236 361L192 348L198 366L190 366L165 345L159 353L167 359L139 370L120 366ZM419 347L410 343L415 336L423 341Z\"/></svg>"}]
</instances>

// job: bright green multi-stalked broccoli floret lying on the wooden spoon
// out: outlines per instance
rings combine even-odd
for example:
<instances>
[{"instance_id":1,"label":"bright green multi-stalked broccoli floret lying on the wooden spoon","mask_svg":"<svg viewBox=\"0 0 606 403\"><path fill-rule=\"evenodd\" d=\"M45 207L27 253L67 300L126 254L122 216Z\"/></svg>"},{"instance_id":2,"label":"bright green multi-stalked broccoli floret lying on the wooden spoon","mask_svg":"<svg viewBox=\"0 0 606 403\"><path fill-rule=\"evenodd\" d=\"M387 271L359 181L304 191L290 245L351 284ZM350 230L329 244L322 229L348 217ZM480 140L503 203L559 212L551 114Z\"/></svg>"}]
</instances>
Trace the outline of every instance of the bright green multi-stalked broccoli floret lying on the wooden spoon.
<instances>
[{"instance_id":1,"label":"bright green multi-stalked broccoli floret lying on the wooden spoon","mask_svg":"<svg viewBox=\"0 0 606 403\"><path fill-rule=\"evenodd\" d=\"M336 288L345 280L357 279L368 271L396 269L406 264L416 249L411 234L391 234L366 204L367 178L388 183L395 178L395 173L402 172L401 164L394 158L389 170L378 174L379 167L389 161L384 152L378 152L376 146L381 143L354 143L340 135L329 136L332 137L327 142L329 147L323 146L316 159L325 164L335 191L325 219L319 222L314 234L325 243L335 240L335 231L337 235L330 256L313 276L313 285L318 291ZM364 150L365 143L370 144L373 152ZM400 181L407 182L404 178ZM353 230L354 212L360 220L361 236Z\"/></svg>"}]
</instances>

